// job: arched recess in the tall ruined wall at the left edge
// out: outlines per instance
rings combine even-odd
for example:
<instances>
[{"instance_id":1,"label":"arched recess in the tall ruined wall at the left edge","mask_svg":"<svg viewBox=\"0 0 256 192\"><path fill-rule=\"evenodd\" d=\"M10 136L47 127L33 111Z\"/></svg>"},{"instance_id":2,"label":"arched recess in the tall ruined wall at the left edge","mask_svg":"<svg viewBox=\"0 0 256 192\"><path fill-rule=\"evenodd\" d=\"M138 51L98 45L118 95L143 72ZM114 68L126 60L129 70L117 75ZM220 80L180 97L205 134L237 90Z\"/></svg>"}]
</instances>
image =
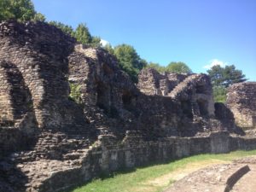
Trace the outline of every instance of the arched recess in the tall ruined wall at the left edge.
<instances>
[{"instance_id":1,"label":"arched recess in the tall ruined wall at the left edge","mask_svg":"<svg viewBox=\"0 0 256 192\"><path fill-rule=\"evenodd\" d=\"M0 123L19 124L19 119L32 111L32 100L24 79L17 67L5 61L0 63Z\"/></svg>"}]
</instances>

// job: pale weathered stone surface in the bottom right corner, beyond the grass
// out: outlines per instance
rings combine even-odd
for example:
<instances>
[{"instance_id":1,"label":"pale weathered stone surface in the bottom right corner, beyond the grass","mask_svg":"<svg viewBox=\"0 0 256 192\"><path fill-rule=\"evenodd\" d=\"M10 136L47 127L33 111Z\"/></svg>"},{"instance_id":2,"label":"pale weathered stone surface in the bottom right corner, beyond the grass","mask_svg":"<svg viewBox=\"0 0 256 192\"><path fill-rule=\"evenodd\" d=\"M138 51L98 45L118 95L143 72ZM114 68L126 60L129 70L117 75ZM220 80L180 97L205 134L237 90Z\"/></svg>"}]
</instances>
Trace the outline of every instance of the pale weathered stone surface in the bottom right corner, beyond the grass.
<instances>
[{"instance_id":1,"label":"pale weathered stone surface in the bottom right corner, beyond the grass","mask_svg":"<svg viewBox=\"0 0 256 192\"><path fill-rule=\"evenodd\" d=\"M253 156L234 160L231 164L209 166L183 177L165 192L253 192L255 190L253 179L256 175L255 161L256 158Z\"/></svg>"}]
</instances>

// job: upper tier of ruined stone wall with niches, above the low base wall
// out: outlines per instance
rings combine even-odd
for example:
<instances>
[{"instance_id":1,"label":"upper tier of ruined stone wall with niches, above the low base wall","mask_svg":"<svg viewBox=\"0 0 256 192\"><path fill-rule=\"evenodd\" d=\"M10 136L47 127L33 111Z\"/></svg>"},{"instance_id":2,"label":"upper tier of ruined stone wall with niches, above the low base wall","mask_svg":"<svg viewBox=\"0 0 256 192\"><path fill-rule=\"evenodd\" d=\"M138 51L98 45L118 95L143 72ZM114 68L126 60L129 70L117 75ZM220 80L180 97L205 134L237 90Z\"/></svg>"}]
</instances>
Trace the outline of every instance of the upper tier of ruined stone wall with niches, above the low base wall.
<instances>
[{"instance_id":1,"label":"upper tier of ruined stone wall with niches, above the low base wall","mask_svg":"<svg viewBox=\"0 0 256 192\"><path fill-rule=\"evenodd\" d=\"M30 112L37 127L76 134L90 127L120 137L126 130L143 130L149 138L193 136L211 128L214 106L207 75L146 69L138 90L107 51L76 44L55 26L3 22L0 35L0 58L15 67L23 82L8 89L19 86L20 92L28 92L20 106L17 96L6 98L11 104L1 108L9 108L10 119L17 120L11 115L22 111L24 122ZM75 86L79 104L68 100L68 82Z\"/></svg>"}]
</instances>

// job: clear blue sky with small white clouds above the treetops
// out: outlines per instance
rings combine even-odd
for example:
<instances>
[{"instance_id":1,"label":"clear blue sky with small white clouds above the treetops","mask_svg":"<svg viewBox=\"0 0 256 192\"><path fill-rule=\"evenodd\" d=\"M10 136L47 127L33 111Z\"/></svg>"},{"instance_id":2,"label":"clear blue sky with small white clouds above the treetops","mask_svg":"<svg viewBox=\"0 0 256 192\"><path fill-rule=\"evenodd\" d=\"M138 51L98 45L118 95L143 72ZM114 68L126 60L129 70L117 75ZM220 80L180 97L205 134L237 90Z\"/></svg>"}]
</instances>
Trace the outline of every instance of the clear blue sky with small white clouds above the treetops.
<instances>
[{"instance_id":1,"label":"clear blue sky with small white clouds above the treetops","mask_svg":"<svg viewBox=\"0 0 256 192\"><path fill-rule=\"evenodd\" d=\"M113 46L131 44L147 61L211 64L256 81L256 0L32 0L47 20L78 26Z\"/></svg>"}]
</instances>

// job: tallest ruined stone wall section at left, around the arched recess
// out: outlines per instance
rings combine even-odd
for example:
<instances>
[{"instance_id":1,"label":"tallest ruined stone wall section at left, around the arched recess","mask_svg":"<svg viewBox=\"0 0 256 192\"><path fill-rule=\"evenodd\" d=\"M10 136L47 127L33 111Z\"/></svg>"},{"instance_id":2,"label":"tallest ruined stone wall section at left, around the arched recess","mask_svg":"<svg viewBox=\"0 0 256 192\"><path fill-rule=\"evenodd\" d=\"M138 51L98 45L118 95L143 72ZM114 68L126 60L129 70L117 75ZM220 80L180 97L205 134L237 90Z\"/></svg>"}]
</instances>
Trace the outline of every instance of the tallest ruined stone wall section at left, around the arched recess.
<instances>
[{"instance_id":1,"label":"tallest ruined stone wall section at left, around the arched recess","mask_svg":"<svg viewBox=\"0 0 256 192\"><path fill-rule=\"evenodd\" d=\"M20 85L15 82L5 84L6 89L28 90L26 96L15 97L15 93L11 93L13 97L7 99L12 103L9 108L23 112L20 114L22 117L32 109L37 121L34 126L41 128L56 129L72 125L75 119L73 112L79 110L68 101L67 55L73 51L74 39L55 26L41 22L26 25L3 22L0 25L0 38L0 59L12 65L2 68L5 74L21 80ZM16 74L20 77L17 78ZM21 110L20 102L26 109ZM12 118L11 115L9 118Z\"/></svg>"}]
</instances>

